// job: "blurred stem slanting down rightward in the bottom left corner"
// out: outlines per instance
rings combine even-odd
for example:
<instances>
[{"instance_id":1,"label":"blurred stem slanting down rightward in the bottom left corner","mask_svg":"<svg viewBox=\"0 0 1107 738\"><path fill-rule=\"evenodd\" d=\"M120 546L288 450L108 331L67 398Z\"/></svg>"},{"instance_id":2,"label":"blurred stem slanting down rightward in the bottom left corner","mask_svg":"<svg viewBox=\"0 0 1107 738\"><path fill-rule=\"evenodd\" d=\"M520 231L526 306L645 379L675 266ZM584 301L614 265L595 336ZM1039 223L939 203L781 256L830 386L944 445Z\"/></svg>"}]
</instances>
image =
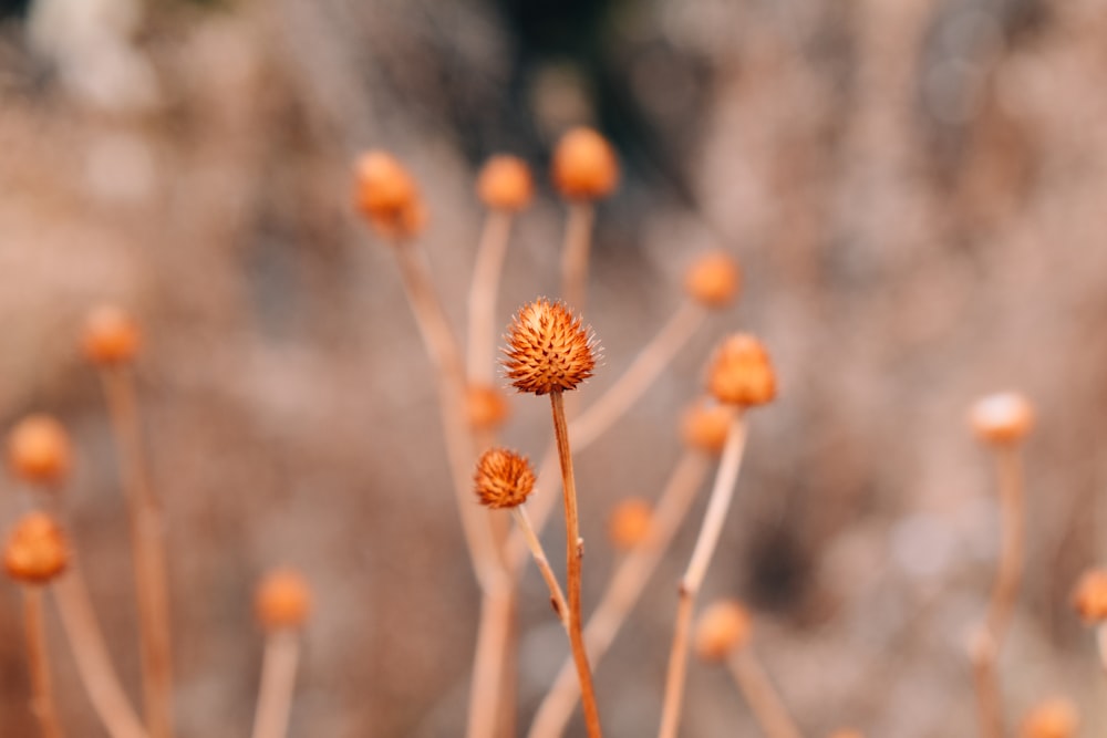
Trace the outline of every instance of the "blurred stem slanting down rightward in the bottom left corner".
<instances>
[{"instance_id":1,"label":"blurred stem slanting down rightward in the bottom left corner","mask_svg":"<svg viewBox=\"0 0 1107 738\"><path fill-rule=\"evenodd\" d=\"M146 738L146 730L112 666L81 570L71 567L54 581L52 592L81 682L107 735Z\"/></svg>"}]
</instances>

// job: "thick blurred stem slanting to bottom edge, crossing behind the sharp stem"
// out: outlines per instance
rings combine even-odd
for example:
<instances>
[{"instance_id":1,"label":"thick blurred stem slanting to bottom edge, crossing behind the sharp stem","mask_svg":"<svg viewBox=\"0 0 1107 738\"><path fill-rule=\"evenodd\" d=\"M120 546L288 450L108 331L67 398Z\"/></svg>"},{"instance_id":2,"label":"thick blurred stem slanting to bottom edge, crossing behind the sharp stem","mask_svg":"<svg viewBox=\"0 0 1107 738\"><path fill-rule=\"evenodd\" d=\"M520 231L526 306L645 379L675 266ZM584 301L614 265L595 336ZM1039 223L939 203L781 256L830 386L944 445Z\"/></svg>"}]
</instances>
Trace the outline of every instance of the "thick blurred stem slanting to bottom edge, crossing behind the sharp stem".
<instances>
[{"instance_id":1,"label":"thick blurred stem slanting to bottom edge, crossing behind the sharp stem","mask_svg":"<svg viewBox=\"0 0 1107 738\"><path fill-rule=\"evenodd\" d=\"M703 454L684 451L665 486L651 517L650 532L619 564L588 623L584 646L592 668L599 668L608 647L627 621L643 588L653 575L677 528L687 514L696 490L707 476L708 460ZM530 738L555 738L565 731L580 697L572 659L558 672L530 726Z\"/></svg>"}]
</instances>

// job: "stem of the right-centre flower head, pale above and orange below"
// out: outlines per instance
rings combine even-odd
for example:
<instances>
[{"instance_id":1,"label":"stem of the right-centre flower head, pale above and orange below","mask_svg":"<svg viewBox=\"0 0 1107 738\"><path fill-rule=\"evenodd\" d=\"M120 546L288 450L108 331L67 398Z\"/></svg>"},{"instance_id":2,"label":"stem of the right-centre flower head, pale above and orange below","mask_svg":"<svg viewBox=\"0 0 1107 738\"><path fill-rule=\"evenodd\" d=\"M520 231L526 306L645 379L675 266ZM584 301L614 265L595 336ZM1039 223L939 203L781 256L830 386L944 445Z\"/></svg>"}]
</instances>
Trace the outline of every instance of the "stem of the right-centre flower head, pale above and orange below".
<instances>
[{"instance_id":1,"label":"stem of the right-centre flower head, pale above and orange below","mask_svg":"<svg viewBox=\"0 0 1107 738\"><path fill-rule=\"evenodd\" d=\"M718 543L718 537L726 521L726 512L734 497L734 485L742 469L742 457L746 445L745 414L739 412L731 420L726 435L726 445L715 474L715 485L707 501L700 536L692 559L689 561L684 576L681 579L680 601L676 607L676 625L673 632L673 646L669 655L669 672L665 677L665 697L661 710L660 738L674 738L681 719L681 705L684 700L684 680L687 672L689 640L692 630L692 610L700 585L707 573L712 554Z\"/></svg>"}]
</instances>

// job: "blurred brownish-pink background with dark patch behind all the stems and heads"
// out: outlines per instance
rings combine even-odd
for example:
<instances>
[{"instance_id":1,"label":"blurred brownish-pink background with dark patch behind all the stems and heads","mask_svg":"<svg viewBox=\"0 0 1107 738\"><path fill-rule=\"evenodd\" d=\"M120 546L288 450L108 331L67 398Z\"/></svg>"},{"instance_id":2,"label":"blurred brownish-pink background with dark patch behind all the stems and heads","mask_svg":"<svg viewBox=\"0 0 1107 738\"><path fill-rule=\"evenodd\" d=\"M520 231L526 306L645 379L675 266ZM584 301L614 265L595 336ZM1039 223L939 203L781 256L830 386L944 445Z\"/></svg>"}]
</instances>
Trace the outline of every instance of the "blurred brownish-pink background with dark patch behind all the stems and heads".
<instances>
[{"instance_id":1,"label":"blurred brownish-pink background with dark patch behind all the stems and heads","mask_svg":"<svg viewBox=\"0 0 1107 738\"><path fill-rule=\"evenodd\" d=\"M407 163L454 326L488 155L540 185L499 306L558 290L557 136L594 125L623 181L600 206L589 314L609 386L723 248L738 303L578 458L584 603L608 510L653 498L718 336L761 335L780 375L703 600L756 613L755 649L807 735L973 735L964 654L995 567L982 394L1038 410L1027 579L1001 659L1007 719L1062 694L1107 729L1092 634L1067 601L1104 553L1107 4L1100 0L4 0L0 2L0 418L71 429L73 536L137 698L126 518L83 314L144 325L138 367L168 516L183 737L246 735L251 590L300 568L315 617L293 736L463 732L479 602L430 364L390 249L355 217L351 163ZM531 456L548 410L513 397ZM4 528L27 506L0 496ZM597 673L612 736L652 735L703 498ZM559 526L546 536L560 551ZM560 559L559 555L551 555ZM524 582L520 730L568 648ZM51 613L64 721L100 736ZM18 589L0 586L0 732L34 735ZM693 664L685 736L755 730ZM575 723L569 735L580 735Z\"/></svg>"}]
</instances>

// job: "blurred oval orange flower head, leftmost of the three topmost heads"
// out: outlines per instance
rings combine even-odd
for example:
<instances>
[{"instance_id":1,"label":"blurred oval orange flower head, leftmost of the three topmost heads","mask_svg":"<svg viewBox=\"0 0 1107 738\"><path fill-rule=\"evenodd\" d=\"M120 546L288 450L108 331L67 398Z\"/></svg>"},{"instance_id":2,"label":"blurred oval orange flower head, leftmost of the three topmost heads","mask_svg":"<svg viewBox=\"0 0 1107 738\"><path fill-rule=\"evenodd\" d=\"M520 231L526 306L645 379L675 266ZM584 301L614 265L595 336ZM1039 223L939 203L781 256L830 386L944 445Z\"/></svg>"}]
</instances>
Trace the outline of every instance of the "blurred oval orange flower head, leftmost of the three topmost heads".
<instances>
[{"instance_id":1,"label":"blurred oval orange flower head, leftmost of the three topmost heads","mask_svg":"<svg viewBox=\"0 0 1107 738\"><path fill-rule=\"evenodd\" d=\"M426 220L415 179L386 152L363 154L356 164L355 200L377 233L392 241L417 236Z\"/></svg>"}]
</instances>

